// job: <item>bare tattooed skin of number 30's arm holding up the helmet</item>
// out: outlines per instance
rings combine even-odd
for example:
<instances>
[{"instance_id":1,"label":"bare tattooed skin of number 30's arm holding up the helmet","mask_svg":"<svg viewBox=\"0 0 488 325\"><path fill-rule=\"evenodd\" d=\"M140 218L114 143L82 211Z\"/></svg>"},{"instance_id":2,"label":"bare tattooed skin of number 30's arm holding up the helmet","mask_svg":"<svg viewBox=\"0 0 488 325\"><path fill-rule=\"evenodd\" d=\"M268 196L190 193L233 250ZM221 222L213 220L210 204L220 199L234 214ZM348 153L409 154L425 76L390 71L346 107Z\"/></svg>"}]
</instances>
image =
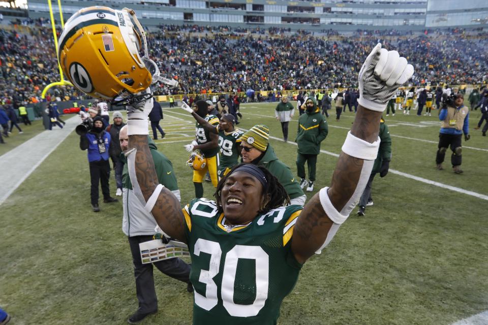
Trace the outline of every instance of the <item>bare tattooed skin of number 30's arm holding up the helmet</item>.
<instances>
[{"instance_id":1,"label":"bare tattooed skin of number 30's arm holding up the helmet","mask_svg":"<svg viewBox=\"0 0 488 325\"><path fill-rule=\"evenodd\" d=\"M147 143L147 135L129 136L129 150L134 148L137 149L135 162L137 182L144 200L147 202L159 184L153 156ZM151 213L166 234L186 242L185 217L181 211L180 203L166 187L161 190Z\"/></svg>"}]
</instances>

